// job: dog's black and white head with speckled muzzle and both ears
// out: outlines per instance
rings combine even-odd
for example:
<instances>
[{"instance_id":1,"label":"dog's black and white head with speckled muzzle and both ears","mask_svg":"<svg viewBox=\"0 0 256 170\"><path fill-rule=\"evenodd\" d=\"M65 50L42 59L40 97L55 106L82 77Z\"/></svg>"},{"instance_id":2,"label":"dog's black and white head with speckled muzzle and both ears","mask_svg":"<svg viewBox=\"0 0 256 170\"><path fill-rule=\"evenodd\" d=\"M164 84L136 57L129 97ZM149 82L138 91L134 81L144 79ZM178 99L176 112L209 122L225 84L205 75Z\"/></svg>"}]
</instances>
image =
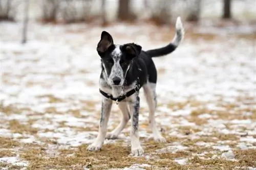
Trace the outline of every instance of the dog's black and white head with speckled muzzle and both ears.
<instances>
[{"instance_id":1,"label":"dog's black and white head with speckled muzzle and both ears","mask_svg":"<svg viewBox=\"0 0 256 170\"><path fill-rule=\"evenodd\" d=\"M112 36L103 31L97 46L102 69L111 86L122 86L132 59L139 56L141 46L135 43L115 45Z\"/></svg>"}]
</instances>

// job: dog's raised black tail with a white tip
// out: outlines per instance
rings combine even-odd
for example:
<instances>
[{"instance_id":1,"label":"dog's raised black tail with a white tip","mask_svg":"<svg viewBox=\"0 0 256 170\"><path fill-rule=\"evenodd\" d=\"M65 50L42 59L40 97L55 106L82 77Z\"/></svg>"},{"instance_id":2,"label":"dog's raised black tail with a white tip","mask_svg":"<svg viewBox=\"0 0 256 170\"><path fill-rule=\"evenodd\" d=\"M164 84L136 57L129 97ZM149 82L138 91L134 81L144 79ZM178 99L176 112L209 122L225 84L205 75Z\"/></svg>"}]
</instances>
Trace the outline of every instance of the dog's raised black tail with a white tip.
<instances>
[{"instance_id":1,"label":"dog's raised black tail with a white tip","mask_svg":"<svg viewBox=\"0 0 256 170\"><path fill-rule=\"evenodd\" d=\"M146 53L151 57L160 57L160 56L170 54L173 51L175 51L175 49L179 46L183 37L184 37L184 29L182 26L181 18L178 17L176 20L176 34L173 41L164 47L148 50L146 51Z\"/></svg>"}]
</instances>

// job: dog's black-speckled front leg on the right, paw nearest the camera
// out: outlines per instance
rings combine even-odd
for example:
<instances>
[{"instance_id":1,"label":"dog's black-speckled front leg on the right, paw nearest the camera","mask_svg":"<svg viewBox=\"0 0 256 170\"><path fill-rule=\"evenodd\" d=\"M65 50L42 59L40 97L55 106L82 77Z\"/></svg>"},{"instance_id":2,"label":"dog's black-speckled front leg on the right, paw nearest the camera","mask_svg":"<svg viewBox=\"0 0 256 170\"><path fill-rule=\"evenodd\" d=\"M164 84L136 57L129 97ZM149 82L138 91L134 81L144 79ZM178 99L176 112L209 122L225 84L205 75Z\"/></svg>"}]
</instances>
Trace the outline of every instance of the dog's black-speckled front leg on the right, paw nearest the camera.
<instances>
[{"instance_id":1,"label":"dog's black-speckled front leg on the right, paw nearest the camera","mask_svg":"<svg viewBox=\"0 0 256 170\"><path fill-rule=\"evenodd\" d=\"M132 127L131 127L131 149L132 149L132 155L139 156L144 153L144 150L142 149L140 145L139 140L139 109L140 109L140 98L138 96L138 93L135 94L135 100L130 103L130 110L132 115Z\"/></svg>"}]
</instances>

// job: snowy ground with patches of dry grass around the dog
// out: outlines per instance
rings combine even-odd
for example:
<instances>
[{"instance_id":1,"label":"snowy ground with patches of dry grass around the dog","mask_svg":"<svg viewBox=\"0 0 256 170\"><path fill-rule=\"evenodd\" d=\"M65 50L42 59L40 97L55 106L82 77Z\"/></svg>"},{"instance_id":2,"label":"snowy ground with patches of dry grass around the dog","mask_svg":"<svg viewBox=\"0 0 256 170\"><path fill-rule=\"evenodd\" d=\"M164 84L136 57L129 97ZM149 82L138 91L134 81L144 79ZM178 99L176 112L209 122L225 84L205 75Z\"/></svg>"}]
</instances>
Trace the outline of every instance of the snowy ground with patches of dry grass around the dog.
<instances>
[{"instance_id":1,"label":"snowy ground with patches of dry grass around the dog","mask_svg":"<svg viewBox=\"0 0 256 170\"><path fill-rule=\"evenodd\" d=\"M139 134L145 154L130 156L130 123L100 152L86 150L98 131L103 28L30 23L20 44L21 23L2 23L2 169L256 169L256 36L253 28L185 25L177 50L155 58L156 121L167 143L156 143L141 91ZM172 27L116 23L115 43L144 50L174 36ZM247 32L245 32L245 30ZM243 32L240 32L243 31ZM121 119L113 106L109 131Z\"/></svg>"}]
</instances>

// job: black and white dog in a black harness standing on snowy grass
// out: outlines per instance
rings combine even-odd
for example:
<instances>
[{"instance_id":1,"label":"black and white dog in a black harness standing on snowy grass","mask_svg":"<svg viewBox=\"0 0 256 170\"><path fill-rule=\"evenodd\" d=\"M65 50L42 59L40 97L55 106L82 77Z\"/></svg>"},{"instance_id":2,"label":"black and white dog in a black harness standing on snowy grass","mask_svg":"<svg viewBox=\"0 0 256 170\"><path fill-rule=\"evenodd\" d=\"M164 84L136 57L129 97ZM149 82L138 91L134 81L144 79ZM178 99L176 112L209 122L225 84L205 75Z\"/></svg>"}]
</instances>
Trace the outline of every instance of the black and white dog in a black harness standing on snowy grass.
<instances>
[{"instance_id":1,"label":"black and white dog in a black harness standing on snowy grass","mask_svg":"<svg viewBox=\"0 0 256 170\"><path fill-rule=\"evenodd\" d=\"M155 122L157 106L156 83L157 69L152 57L160 57L172 53L178 47L184 36L180 17L176 21L176 34L168 45L149 51L142 51L135 43L123 45L114 44L112 36L103 31L97 46L101 57L102 71L99 80L101 101L101 118L99 132L95 141L88 146L89 151L100 150L104 139L116 139L131 118L131 152L134 156L144 153L139 140L139 90L143 87L149 107L148 121L154 140L165 142ZM110 133L106 133L111 112L112 101L117 102L122 112L121 123Z\"/></svg>"}]
</instances>

